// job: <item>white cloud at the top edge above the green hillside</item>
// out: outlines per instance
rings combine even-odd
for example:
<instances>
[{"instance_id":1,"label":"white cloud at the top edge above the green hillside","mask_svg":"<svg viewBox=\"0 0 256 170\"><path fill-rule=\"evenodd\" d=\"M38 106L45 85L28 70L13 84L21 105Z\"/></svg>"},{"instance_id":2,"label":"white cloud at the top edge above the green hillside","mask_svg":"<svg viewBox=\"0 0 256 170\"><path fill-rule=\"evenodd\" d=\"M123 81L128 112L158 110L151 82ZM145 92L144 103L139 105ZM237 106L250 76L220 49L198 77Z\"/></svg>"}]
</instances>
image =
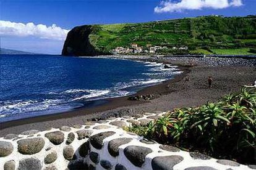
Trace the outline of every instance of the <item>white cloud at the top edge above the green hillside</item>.
<instances>
[{"instance_id":1,"label":"white cloud at the top edge above the green hillside","mask_svg":"<svg viewBox=\"0 0 256 170\"><path fill-rule=\"evenodd\" d=\"M155 7L156 13L181 12L182 10L200 10L203 8L224 9L227 7L242 6L242 0L172 0L162 1L160 6Z\"/></svg>"}]
</instances>

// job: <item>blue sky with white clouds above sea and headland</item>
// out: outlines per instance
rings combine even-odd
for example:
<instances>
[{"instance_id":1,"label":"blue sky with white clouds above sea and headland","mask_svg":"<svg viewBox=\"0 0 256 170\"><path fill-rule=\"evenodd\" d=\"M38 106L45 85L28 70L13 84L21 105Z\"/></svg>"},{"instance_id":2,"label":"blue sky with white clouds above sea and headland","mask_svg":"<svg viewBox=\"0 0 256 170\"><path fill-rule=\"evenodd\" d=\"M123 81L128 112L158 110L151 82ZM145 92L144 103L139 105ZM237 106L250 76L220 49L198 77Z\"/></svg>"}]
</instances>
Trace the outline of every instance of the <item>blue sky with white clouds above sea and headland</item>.
<instances>
[{"instance_id":1,"label":"blue sky with white clouds above sea and headland","mask_svg":"<svg viewBox=\"0 0 256 170\"><path fill-rule=\"evenodd\" d=\"M256 0L0 0L1 48L61 54L77 25L256 14Z\"/></svg>"}]
</instances>

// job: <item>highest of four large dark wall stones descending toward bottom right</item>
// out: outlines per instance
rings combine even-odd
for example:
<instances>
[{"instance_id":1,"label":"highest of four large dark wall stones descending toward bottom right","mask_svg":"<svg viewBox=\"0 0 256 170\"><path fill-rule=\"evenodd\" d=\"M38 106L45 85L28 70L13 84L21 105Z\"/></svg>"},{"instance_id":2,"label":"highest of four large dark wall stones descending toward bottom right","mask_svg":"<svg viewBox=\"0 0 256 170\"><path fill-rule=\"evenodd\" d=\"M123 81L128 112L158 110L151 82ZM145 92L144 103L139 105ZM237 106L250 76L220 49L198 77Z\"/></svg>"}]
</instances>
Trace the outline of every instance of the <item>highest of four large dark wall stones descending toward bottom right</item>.
<instances>
[{"instance_id":1,"label":"highest of four large dark wall stones descending toward bottom right","mask_svg":"<svg viewBox=\"0 0 256 170\"><path fill-rule=\"evenodd\" d=\"M113 136L116 132L108 131L108 132L101 132L98 134L95 134L94 136L90 137L90 144L92 144L93 147L96 149L101 149L103 147L103 140L106 137Z\"/></svg>"}]
</instances>

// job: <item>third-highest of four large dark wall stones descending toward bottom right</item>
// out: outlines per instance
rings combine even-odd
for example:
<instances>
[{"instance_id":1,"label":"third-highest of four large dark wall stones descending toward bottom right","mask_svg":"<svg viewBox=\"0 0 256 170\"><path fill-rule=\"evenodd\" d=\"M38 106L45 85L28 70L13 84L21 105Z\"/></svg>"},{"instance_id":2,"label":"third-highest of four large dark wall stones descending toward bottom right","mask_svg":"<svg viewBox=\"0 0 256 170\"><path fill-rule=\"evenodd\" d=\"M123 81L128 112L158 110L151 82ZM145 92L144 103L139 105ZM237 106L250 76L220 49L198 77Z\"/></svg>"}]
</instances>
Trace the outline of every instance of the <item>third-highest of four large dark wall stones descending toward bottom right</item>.
<instances>
[{"instance_id":1,"label":"third-highest of four large dark wall stones descending toward bottom right","mask_svg":"<svg viewBox=\"0 0 256 170\"><path fill-rule=\"evenodd\" d=\"M148 153L151 153L151 148L147 147L140 147L131 145L124 148L124 155L126 158L135 166L141 167L142 164L145 162L145 157Z\"/></svg>"}]
</instances>

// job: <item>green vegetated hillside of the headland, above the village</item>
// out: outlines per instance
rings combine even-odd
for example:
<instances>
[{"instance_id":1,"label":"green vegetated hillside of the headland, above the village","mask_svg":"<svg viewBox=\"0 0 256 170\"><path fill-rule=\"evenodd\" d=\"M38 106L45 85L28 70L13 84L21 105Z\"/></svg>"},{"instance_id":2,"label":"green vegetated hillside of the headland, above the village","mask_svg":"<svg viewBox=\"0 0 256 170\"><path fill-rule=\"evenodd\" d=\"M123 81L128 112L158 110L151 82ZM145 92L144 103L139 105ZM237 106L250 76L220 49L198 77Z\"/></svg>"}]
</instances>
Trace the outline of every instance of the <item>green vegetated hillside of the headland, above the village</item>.
<instances>
[{"instance_id":1,"label":"green vegetated hillside of the headland, above the village","mask_svg":"<svg viewBox=\"0 0 256 170\"><path fill-rule=\"evenodd\" d=\"M96 49L105 52L117 46L129 47L130 43L135 42L143 47L147 44L168 47L185 45L194 53L218 54L220 51L211 49L255 48L256 17L198 17L93 25L90 42ZM237 54L236 52L233 51L232 54ZM249 54L247 52L243 50L243 54Z\"/></svg>"}]
</instances>

